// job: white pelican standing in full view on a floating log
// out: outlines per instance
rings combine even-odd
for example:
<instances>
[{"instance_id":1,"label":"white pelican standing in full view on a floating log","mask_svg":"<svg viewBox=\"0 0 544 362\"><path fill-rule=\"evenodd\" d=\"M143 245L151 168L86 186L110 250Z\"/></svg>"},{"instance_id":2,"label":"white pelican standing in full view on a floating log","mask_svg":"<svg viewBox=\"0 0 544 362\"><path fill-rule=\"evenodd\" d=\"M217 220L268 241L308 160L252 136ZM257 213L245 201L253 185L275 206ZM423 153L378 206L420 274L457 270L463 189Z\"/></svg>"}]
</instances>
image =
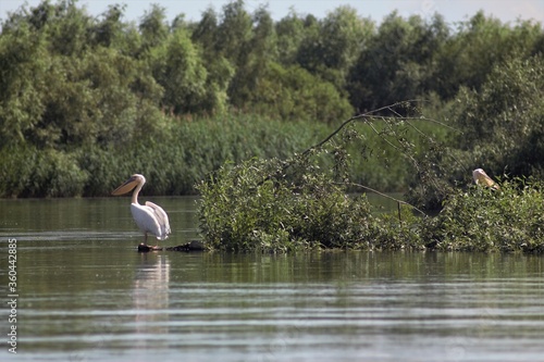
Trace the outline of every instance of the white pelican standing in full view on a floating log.
<instances>
[{"instance_id":1,"label":"white pelican standing in full view on a floating log","mask_svg":"<svg viewBox=\"0 0 544 362\"><path fill-rule=\"evenodd\" d=\"M126 183L118 187L112 195L124 195L131 192L134 188L131 211L134 221L139 229L144 232L144 241L147 242L147 233L152 234L158 240L164 240L170 234L169 216L161 207L150 201L146 204L138 203L138 192L146 183L146 177L139 174L132 175ZM157 241L158 242L158 241Z\"/></svg>"}]
</instances>

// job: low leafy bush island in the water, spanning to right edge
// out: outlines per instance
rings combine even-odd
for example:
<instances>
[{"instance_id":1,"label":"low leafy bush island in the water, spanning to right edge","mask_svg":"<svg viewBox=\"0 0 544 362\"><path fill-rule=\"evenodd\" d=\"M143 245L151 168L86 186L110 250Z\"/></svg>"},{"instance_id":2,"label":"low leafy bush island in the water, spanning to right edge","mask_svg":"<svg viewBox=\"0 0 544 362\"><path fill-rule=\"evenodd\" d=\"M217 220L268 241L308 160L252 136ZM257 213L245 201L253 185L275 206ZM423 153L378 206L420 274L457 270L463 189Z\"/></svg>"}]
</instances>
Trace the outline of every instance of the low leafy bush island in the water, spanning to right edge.
<instances>
[{"instance_id":1,"label":"low leafy bush island in the water, spanning to right edge","mask_svg":"<svg viewBox=\"0 0 544 362\"><path fill-rule=\"evenodd\" d=\"M499 189L449 188L436 215L398 200L375 213L337 170L301 154L224 165L199 184L200 229L209 249L544 251L542 180L505 179Z\"/></svg>"}]
</instances>

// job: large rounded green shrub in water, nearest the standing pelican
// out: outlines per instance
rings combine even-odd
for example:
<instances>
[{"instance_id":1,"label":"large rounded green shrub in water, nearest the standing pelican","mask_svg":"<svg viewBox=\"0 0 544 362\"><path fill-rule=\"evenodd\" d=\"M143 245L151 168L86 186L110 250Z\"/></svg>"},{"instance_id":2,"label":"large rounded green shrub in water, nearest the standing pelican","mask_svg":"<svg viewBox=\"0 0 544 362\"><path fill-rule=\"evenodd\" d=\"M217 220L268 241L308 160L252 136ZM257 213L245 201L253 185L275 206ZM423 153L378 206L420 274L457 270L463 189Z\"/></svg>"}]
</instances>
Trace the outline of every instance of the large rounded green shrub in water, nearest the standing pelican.
<instances>
[{"instance_id":1,"label":"large rounded green shrub in water, nearest the standing pelican","mask_svg":"<svg viewBox=\"0 0 544 362\"><path fill-rule=\"evenodd\" d=\"M200 229L208 245L287 251L362 241L371 215L366 198L348 197L302 159L290 160L288 170L277 159L225 165L198 185Z\"/></svg>"}]
</instances>

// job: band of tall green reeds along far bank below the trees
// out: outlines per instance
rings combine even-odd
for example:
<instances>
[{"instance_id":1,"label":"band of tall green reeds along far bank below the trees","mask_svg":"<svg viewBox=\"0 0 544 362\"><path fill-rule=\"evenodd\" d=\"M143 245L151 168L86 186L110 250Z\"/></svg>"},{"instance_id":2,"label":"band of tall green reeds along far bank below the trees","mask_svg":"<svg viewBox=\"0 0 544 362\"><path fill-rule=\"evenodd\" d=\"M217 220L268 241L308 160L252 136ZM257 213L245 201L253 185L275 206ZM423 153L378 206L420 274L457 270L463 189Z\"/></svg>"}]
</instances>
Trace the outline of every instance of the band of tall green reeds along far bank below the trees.
<instances>
[{"instance_id":1,"label":"band of tall green reeds along far bank below the trees","mask_svg":"<svg viewBox=\"0 0 544 362\"><path fill-rule=\"evenodd\" d=\"M191 195L197 192L197 183L226 162L285 160L316 145L336 126L238 113L166 118L165 124L158 134L109 147L0 149L0 197L107 196L134 173L147 177L148 195ZM411 171L403 157L368 126L356 127L363 137L349 148L350 179L382 191L404 190ZM384 126L376 125L376 129L384 132ZM320 165L333 167L334 157L322 157Z\"/></svg>"}]
</instances>

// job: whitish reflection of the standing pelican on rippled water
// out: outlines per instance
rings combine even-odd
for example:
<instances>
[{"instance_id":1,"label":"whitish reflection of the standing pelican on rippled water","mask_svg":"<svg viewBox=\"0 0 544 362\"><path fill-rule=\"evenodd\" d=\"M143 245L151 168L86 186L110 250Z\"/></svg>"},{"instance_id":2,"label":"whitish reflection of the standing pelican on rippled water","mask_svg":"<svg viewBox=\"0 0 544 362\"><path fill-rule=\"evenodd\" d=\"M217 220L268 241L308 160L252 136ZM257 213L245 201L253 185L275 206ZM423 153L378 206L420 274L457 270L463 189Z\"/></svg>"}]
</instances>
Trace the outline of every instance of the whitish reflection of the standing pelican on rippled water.
<instances>
[{"instance_id":1,"label":"whitish reflection of the standing pelican on rippled water","mask_svg":"<svg viewBox=\"0 0 544 362\"><path fill-rule=\"evenodd\" d=\"M146 252L140 257L133 289L136 347L168 347L168 339L158 336L169 333L170 262L165 254Z\"/></svg>"}]
</instances>

